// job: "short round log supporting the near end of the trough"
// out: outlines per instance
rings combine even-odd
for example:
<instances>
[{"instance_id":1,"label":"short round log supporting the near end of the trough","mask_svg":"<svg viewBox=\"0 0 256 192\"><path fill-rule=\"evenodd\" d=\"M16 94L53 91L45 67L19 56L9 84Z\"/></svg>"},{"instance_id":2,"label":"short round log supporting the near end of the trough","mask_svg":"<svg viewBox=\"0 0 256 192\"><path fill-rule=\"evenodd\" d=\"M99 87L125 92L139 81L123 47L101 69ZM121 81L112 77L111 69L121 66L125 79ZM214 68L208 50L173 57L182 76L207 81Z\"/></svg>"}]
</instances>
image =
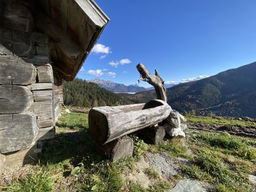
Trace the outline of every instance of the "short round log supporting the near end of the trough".
<instances>
[{"instance_id":1,"label":"short round log supporting the near end of the trough","mask_svg":"<svg viewBox=\"0 0 256 192\"><path fill-rule=\"evenodd\" d=\"M111 161L132 156L134 148L133 141L129 136L124 136L105 145L99 143L96 143L96 145L98 152L111 159Z\"/></svg>"}]
</instances>

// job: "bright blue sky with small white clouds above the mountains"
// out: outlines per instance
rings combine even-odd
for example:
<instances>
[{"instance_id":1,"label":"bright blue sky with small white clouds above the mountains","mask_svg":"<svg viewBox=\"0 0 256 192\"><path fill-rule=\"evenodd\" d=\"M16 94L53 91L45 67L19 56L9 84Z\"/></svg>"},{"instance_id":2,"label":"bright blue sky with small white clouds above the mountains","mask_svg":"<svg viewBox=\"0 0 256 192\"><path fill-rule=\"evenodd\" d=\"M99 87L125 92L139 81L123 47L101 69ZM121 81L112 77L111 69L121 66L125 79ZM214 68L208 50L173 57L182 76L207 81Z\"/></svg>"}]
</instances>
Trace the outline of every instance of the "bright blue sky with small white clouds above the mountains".
<instances>
[{"instance_id":1,"label":"bright blue sky with small white clouds above the mountains","mask_svg":"<svg viewBox=\"0 0 256 192\"><path fill-rule=\"evenodd\" d=\"M256 61L255 0L95 2L111 20L79 78L136 84L143 63L180 82Z\"/></svg>"}]
</instances>

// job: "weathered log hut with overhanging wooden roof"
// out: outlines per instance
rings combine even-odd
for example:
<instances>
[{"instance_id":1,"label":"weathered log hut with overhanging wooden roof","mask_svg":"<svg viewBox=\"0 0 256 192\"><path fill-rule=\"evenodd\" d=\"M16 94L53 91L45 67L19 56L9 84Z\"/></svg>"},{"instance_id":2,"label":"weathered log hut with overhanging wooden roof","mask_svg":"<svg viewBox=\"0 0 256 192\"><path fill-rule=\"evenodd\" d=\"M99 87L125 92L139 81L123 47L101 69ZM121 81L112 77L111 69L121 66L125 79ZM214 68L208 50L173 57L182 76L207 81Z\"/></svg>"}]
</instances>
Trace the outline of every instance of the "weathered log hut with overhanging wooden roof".
<instances>
[{"instance_id":1,"label":"weathered log hut with overhanging wooden roof","mask_svg":"<svg viewBox=\"0 0 256 192\"><path fill-rule=\"evenodd\" d=\"M72 81L108 17L93 0L0 0L0 172L54 138Z\"/></svg>"}]
</instances>

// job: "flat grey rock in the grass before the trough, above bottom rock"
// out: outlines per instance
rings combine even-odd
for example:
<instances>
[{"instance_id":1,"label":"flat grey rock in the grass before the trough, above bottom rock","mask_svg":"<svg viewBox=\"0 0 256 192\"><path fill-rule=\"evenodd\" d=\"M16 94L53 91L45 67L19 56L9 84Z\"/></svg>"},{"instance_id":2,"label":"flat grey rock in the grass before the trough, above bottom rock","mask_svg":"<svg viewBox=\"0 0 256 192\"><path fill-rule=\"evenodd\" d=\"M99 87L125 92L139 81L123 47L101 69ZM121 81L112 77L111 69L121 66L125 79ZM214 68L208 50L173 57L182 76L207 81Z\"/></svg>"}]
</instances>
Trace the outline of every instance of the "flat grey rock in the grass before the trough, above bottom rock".
<instances>
[{"instance_id":1,"label":"flat grey rock in the grass before the trough, above bottom rock","mask_svg":"<svg viewBox=\"0 0 256 192\"><path fill-rule=\"evenodd\" d=\"M159 174L165 177L177 175L179 165L175 163L172 157L162 152L160 154L146 154L145 161Z\"/></svg>"}]
</instances>

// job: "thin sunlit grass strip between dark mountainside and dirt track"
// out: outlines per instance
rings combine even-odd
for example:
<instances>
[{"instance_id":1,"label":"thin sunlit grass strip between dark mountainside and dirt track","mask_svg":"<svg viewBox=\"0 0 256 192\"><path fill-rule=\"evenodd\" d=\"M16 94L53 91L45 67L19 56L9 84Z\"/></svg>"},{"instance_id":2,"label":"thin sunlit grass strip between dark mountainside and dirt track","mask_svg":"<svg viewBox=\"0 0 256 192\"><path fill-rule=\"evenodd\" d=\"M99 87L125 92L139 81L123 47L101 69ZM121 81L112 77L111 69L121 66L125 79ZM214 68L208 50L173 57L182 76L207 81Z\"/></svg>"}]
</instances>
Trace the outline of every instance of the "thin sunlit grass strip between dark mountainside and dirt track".
<instances>
[{"instance_id":1,"label":"thin sunlit grass strip between dark mountainside and dirt track","mask_svg":"<svg viewBox=\"0 0 256 192\"><path fill-rule=\"evenodd\" d=\"M201 123L201 124L216 124L216 125L238 125L241 127L244 126L256 126L256 122L235 120L225 118L223 116L191 116L187 115L186 119L191 123Z\"/></svg>"}]
</instances>

